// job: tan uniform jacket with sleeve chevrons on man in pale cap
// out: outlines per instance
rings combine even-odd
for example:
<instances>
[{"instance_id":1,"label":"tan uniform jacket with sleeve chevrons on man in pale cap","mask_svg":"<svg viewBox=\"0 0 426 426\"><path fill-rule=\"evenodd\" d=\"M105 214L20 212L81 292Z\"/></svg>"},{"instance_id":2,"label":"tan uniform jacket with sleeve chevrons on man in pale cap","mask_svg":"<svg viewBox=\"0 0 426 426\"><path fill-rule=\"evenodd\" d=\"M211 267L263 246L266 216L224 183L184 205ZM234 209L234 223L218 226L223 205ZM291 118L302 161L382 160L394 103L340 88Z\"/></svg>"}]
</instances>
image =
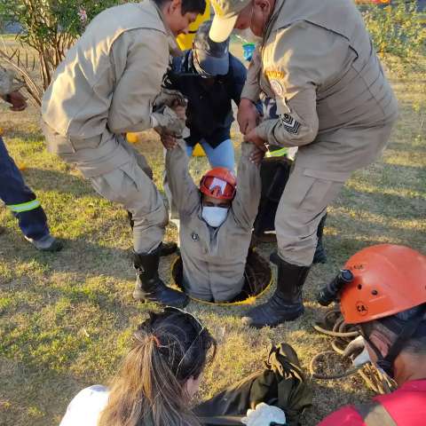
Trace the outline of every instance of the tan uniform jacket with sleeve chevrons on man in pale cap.
<instances>
[{"instance_id":1,"label":"tan uniform jacket with sleeve chevrons on man in pale cap","mask_svg":"<svg viewBox=\"0 0 426 426\"><path fill-rule=\"evenodd\" d=\"M398 106L352 0L278 0L259 51L241 98L263 91L279 114L259 136L336 180L382 152Z\"/></svg>"}]
</instances>

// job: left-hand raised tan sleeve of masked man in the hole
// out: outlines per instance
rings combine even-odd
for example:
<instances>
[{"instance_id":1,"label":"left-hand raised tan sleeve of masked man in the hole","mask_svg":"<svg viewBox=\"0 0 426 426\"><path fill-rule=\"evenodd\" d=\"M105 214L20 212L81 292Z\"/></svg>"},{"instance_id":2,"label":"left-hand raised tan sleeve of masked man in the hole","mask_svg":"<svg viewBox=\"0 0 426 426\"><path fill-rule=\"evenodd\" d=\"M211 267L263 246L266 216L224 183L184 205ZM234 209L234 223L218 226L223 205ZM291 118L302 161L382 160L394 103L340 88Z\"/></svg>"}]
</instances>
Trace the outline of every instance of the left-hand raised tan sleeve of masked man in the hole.
<instances>
[{"instance_id":1,"label":"left-hand raised tan sleeve of masked man in the hole","mask_svg":"<svg viewBox=\"0 0 426 426\"><path fill-rule=\"evenodd\" d=\"M171 198L181 213L191 214L200 205L200 190L193 183L188 170L189 157L185 141L179 139L177 146L166 153L166 173Z\"/></svg>"}]
</instances>

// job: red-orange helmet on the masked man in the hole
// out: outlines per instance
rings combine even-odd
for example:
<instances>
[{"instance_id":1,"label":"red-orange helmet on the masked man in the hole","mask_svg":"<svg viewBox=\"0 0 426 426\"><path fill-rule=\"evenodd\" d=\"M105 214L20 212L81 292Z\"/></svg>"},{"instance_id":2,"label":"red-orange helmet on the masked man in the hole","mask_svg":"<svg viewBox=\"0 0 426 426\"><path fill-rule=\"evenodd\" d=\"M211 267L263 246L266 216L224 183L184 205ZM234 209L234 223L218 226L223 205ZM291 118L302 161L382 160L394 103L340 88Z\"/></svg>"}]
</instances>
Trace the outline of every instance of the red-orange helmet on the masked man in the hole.
<instances>
[{"instance_id":1,"label":"red-orange helmet on the masked man in the hole","mask_svg":"<svg viewBox=\"0 0 426 426\"><path fill-rule=\"evenodd\" d=\"M237 179L225 167L216 167L201 177L200 191L217 200L233 200Z\"/></svg>"}]
</instances>

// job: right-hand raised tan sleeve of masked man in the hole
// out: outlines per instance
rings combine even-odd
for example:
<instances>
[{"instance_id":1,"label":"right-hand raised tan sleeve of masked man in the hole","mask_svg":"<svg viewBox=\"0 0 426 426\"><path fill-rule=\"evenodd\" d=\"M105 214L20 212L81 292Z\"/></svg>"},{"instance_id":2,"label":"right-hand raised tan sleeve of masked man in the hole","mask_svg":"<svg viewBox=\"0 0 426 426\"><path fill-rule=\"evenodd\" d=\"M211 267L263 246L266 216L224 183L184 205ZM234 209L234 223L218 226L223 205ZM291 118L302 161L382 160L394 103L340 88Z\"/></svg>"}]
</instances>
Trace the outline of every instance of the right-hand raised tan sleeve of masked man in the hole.
<instances>
[{"instance_id":1,"label":"right-hand raised tan sleeve of masked man in the hole","mask_svg":"<svg viewBox=\"0 0 426 426\"><path fill-rule=\"evenodd\" d=\"M261 178L260 165L250 162L250 154L255 150L253 144L241 144L241 158L238 164L237 193L233 199L235 220L243 228L251 230L259 208Z\"/></svg>"}]
</instances>

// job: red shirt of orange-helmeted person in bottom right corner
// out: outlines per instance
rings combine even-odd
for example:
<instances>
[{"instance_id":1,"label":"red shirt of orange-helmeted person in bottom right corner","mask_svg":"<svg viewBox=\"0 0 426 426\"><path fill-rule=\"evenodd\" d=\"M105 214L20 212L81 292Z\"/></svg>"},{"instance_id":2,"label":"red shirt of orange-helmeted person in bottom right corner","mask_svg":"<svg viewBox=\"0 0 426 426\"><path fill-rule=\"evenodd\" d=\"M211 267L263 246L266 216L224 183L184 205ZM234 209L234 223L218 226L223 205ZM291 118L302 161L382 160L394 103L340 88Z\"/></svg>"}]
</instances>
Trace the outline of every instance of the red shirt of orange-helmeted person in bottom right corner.
<instances>
[{"instance_id":1,"label":"red shirt of orange-helmeted person in bottom right corner","mask_svg":"<svg viewBox=\"0 0 426 426\"><path fill-rule=\"evenodd\" d=\"M404 383L389 395L374 398L389 412L398 426L426 424L426 380ZM343 406L328 415L318 426L366 426L353 406Z\"/></svg>"}]
</instances>

